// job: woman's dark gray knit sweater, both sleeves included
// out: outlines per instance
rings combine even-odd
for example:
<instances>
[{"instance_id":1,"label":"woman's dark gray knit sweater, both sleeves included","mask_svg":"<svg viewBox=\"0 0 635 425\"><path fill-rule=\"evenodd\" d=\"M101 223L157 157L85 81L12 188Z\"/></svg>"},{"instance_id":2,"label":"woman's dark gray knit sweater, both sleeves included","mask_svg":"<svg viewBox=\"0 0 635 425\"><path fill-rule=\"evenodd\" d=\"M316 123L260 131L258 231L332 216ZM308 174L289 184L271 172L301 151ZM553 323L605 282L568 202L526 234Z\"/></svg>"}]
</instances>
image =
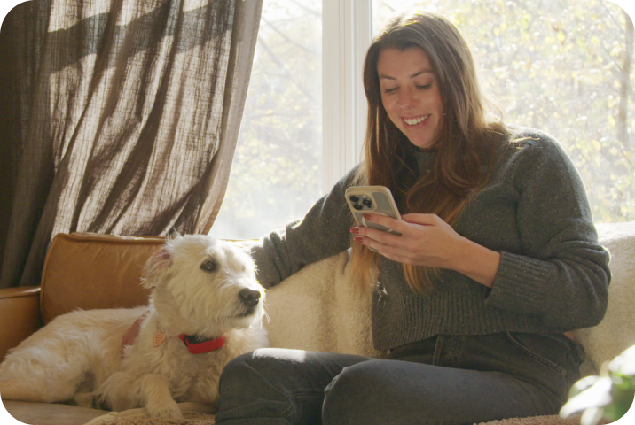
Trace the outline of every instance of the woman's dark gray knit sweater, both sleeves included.
<instances>
[{"instance_id":1,"label":"woman's dark gray knit sweater, both sleeves included","mask_svg":"<svg viewBox=\"0 0 635 425\"><path fill-rule=\"evenodd\" d=\"M459 235L501 253L493 289L442 270L432 277L434 290L419 295L409 289L401 264L381 258L372 302L378 350L439 334L563 332L596 325L604 316L609 255L598 244L576 168L551 136L513 131L520 141L499 150L488 186L455 226ZM422 169L434 160L431 153L414 154ZM344 191L353 171L302 220L252 247L263 286L349 248L353 220Z\"/></svg>"}]
</instances>

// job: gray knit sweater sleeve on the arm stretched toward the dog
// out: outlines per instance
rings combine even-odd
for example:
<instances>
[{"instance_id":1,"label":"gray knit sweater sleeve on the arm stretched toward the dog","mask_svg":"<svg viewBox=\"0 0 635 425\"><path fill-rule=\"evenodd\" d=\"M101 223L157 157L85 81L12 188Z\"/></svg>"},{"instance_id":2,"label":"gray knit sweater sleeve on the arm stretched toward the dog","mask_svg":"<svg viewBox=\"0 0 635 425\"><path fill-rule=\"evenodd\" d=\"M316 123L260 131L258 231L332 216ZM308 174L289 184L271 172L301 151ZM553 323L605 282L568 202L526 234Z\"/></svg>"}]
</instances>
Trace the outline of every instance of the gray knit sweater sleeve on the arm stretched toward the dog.
<instances>
[{"instance_id":1,"label":"gray knit sweater sleeve on the arm stretched toward the dog","mask_svg":"<svg viewBox=\"0 0 635 425\"><path fill-rule=\"evenodd\" d=\"M356 169L320 198L302 220L295 220L286 228L271 232L251 246L258 280L265 288L278 284L308 264L349 248L353 217L346 205L344 192Z\"/></svg>"}]
</instances>

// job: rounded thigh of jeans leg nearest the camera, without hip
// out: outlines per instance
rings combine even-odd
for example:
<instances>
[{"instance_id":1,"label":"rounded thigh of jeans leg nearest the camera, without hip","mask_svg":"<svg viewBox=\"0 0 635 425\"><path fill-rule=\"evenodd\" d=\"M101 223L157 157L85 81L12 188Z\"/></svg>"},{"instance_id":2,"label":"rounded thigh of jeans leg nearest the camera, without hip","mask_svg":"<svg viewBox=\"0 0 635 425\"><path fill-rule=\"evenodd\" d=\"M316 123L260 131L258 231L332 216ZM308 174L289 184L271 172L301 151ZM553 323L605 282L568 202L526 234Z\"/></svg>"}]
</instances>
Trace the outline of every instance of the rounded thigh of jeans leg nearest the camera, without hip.
<instances>
[{"instance_id":1,"label":"rounded thigh of jeans leg nearest the camera, without hip","mask_svg":"<svg viewBox=\"0 0 635 425\"><path fill-rule=\"evenodd\" d=\"M324 425L461 425L553 413L545 394L510 375L401 360L345 367L325 393Z\"/></svg>"}]
</instances>

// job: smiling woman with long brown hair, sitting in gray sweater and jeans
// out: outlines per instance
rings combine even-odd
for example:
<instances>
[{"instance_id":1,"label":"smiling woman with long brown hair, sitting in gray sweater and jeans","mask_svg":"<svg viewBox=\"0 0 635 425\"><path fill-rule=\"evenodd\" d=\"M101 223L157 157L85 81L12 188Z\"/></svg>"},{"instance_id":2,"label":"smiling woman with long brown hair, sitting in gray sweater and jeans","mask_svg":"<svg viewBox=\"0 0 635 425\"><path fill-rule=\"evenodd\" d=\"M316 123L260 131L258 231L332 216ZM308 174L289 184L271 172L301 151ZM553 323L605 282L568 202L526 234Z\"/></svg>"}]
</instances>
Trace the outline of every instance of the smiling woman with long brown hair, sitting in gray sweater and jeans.
<instances>
[{"instance_id":1,"label":"smiling woman with long brown hair, sitting in gray sweater and jeans","mask_svg":"<svg viewBox=\"0 0 635 425\"><path fill-rule=\"evenodd\" d=\"M218 424L474 423L553 414L584 359L566 336L603 317L608 252L553 138L488 120L446 19L392 21L370 47L365 162L254 248L264 286L349 248L388 359L264 349L225 367ZM353 227L350 185L380 184L401 236ZM373 248L378 252L371 251Z\"/></svg>"}]
</instances>

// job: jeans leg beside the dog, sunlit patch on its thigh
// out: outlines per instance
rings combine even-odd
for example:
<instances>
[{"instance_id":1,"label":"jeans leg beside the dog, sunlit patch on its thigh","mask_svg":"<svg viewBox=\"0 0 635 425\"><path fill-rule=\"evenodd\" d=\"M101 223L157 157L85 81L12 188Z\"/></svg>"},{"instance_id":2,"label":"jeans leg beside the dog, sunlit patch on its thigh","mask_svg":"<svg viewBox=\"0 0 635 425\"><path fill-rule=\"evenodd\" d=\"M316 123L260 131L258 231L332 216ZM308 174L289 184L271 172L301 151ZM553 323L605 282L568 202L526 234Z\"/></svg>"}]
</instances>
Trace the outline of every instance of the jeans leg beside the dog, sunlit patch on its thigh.
<instances>
[{"instance_id":1,"label":"jeans leg beside the dog, sunlit patch on its thigh","mask_svg":"<svg viewBox=\"0 0 635 425\"><path fill-rule=\"evenodd\" d=\"M343 367L371 358L266 348L232 359L223 369L216 423L321 423L324 389Z\"/></svg>"}]
</instances>

